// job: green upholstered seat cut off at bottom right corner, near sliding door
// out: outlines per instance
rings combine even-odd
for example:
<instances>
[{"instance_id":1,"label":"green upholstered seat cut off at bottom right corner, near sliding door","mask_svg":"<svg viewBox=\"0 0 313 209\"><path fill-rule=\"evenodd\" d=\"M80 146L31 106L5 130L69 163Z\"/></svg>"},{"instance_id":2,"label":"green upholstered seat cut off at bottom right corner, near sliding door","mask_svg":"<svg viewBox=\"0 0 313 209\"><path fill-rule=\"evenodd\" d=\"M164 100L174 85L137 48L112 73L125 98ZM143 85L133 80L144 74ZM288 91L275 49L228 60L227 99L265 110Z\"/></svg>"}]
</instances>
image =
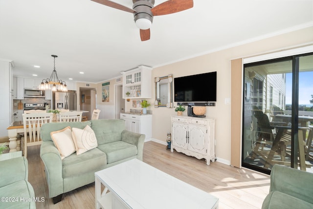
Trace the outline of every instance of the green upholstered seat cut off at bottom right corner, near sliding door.
<instances>
[{"instance_id":1,"label":"green upholstered seat cut off at bottom right corner, near sliding door","mask_svg":"<svg viewBox=\"0 0 313 209\"><path fill-rule=\"evenodd\" d=\"M313 173L275 164L262 209L313 209Z\"/></svg>"}]
</instances>

